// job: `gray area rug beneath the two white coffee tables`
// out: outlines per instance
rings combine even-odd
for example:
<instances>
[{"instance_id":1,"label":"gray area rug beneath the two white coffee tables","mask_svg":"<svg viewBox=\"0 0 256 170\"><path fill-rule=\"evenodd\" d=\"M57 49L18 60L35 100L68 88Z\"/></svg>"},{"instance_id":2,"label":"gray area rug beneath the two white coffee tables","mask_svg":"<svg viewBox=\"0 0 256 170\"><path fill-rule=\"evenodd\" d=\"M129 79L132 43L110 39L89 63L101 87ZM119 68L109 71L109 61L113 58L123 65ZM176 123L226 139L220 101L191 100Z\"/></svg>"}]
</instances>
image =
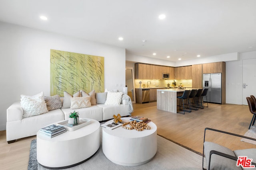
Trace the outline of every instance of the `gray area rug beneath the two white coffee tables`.
<instances>
[{"instance_id":1,"label":"gray area rug beneath the two white coffee tables","mask_svg":"<svg viewBox=\"0 0 256 170\"><path fill-rule=\"evenodd\" d=\"M101 139L100 139L101 140ZM86 162L66 170L201 170L202 156L177 145L163 137L157 136L157 152L154 158L139 166L122 166L114 164L102 152L102 145L96 154ZM117 154L118 155L118 154ZM36 140L31 142L28 170L48 170L37 163Z\"/></svg>"}]
</instances>

